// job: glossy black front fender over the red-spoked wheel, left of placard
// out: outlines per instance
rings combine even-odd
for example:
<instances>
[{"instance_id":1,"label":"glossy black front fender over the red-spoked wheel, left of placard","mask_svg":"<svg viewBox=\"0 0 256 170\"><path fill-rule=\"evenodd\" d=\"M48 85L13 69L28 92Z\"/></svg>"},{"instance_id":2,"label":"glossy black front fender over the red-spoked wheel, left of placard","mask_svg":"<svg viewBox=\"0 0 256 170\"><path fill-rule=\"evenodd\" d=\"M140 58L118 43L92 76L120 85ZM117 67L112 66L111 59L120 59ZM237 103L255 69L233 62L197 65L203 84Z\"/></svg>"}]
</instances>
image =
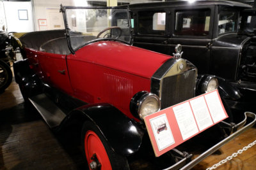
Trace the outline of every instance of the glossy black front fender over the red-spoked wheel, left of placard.
<instances>
[{"instance_id":1,"label":"glossy black front fender over the red-spoked wheel, left of placard","mask_svg":"<svg viewBox=\"0 0 256 170\"><path fill-rule=\"evenodd\" d=\"M65 122L79 118L92 121L114 152L129 156L139 150L144 130L111 104L85 105L72 111ZM69 120L67 120L69 119Z\"/></svg>"}]
</instances>

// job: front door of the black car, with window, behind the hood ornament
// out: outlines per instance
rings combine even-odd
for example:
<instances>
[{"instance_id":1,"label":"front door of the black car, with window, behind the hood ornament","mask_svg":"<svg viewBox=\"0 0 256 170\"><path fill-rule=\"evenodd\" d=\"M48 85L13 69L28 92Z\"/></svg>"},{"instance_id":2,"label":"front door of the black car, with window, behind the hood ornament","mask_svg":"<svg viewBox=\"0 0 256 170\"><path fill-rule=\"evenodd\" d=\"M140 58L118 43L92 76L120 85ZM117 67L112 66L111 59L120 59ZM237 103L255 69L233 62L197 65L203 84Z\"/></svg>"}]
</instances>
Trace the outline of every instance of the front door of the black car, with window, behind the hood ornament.
<instances>
[{"instance_id":1,"label":"front door of the black car, with window, behind the hood ornament","mask_svg":"<svg viewBox=\"0 0 256 170\"><path fill-rule=\"evenodd\" d=\"M170 53L174 52L175 45L182 45L182 58L195 64L198 73L209 73L214 6L185 6L170 10Z\"/></svg>"}]
</instances>

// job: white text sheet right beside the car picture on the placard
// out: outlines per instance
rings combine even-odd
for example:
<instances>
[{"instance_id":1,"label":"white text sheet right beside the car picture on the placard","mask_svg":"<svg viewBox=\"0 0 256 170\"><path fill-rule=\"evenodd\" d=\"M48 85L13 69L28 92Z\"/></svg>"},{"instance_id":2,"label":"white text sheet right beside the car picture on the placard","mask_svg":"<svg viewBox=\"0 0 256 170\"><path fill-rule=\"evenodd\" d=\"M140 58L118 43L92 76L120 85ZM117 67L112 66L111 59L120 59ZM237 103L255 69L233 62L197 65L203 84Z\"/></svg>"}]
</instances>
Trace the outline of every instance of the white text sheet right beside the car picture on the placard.
<instances>
[{"instance_id":1,"label":"white text sheet right beside the car picture on the placard","mask_svg":"<svg viewBox=\"0 0 256 170\"><path fill-rule=\"evenodd\" d=\"M179 125L183 140L186 140L198 132L193 112L189 102L173 107L173 112Z\"/></svg>"}]
</instances>

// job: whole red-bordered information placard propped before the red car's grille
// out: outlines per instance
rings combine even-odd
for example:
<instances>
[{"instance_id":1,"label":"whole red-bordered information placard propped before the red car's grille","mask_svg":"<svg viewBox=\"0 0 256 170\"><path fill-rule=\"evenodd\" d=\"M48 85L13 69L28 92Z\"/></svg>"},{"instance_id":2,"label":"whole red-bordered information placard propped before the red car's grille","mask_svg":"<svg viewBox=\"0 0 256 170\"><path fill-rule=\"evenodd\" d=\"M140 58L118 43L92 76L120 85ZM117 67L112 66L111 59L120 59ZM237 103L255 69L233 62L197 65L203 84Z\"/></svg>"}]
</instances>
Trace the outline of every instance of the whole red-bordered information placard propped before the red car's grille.
<instances>
[{"instance_id":1,"label":"whole red-bordered information placard propped before the red car's grille","mask_svg":"<svg viewBox=\"0 0 256 170\"><path fill-rule=\"evenodd\" d=\"M156 157L228 118L218 90L144 117Z\"/></svg>"}]
</instances>

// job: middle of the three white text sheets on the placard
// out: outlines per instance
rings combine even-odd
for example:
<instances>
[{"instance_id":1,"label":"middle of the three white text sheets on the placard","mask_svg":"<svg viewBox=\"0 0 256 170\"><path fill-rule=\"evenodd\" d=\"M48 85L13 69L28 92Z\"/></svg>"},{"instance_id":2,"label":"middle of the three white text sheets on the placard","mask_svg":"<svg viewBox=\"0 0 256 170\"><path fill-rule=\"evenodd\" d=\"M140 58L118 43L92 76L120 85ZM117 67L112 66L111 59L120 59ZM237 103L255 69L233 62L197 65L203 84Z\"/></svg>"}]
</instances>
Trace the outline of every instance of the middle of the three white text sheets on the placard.
<instances>
[{"instance_id":1,"label":"middle of the three white text sheets on the placard","mask_svg":"<svg viewBox=\"0 0 256 170\"><path fill-rule=\"evenodd\" d=\"M189 103L191 104L191 108L195 115L199 131L202 131L213 124L204 96L195 98L189 101Z\"/></svg>"}]
</instances>

